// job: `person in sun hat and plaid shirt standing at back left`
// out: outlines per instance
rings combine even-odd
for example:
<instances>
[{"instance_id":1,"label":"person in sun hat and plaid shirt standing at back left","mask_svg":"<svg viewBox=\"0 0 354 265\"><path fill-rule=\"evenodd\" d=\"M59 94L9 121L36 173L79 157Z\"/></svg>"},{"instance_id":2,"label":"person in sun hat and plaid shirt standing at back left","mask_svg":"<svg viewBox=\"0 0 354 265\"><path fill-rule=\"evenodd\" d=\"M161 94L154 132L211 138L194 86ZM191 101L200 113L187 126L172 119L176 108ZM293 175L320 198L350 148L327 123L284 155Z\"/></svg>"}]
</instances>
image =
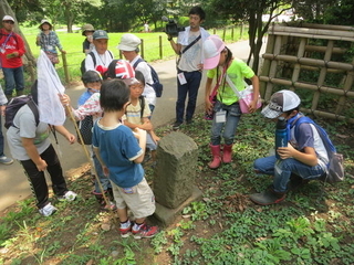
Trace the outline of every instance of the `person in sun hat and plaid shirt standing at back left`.
<instances>
[{"instance_id":1,"label":"person in sun hat and plaid shirt standing at back left","mask_svg":"<svg viewBox=\"0 0 354 265\"><path fill-rule=\"evenodd\" d=\"M66 52L63 50L56 33L52 31L53 25L48 20L42 20L39 29L41 32L37 35L35 44L46 53L52 64L58 64L59 57L56 47L61 51L61 53Z\"/></svg>"}]
</instances>

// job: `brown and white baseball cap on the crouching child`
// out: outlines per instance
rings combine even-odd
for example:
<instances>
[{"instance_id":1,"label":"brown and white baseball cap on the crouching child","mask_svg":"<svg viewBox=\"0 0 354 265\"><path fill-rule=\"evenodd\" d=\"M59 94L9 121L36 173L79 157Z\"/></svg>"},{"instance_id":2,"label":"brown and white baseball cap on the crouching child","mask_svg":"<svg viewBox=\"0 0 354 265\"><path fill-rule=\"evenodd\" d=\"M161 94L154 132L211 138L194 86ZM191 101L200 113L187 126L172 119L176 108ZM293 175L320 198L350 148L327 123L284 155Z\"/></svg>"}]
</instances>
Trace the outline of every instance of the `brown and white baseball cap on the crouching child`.
<instances>
[{"instance_id":1,"label":"brown and white baseball cap on the crouching child","mask_svg":"<svg viewBox=\"0 0 354 265\"><path fill-rule=\"evenodd\" d=\"M270 103L263 108L261 114L266 118L277 118L282 113L296 108L300 103L300 97L294 92L279 91L271 96Z\"/></svg>"}]
</instances>

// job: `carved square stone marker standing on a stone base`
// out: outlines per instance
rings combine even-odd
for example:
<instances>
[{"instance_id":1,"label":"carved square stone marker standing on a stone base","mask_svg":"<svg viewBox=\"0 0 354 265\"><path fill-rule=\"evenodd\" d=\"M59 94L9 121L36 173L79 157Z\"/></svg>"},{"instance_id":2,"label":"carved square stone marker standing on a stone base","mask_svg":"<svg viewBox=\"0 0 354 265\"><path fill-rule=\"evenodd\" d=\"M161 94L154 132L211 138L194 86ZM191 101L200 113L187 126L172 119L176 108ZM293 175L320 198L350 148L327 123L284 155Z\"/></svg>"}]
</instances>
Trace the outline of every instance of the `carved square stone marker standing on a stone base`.
<instances>
[{"instance_id":1,"label":"carved square stone marker standing on a stone base","mask_svg":"<svg viewBox=\"0 0 354 265\"><path fill-rule=\"evenodd\" d=\"M155 215L165 225L201 195L195 187L197 160L197 144L183 132L174 131L158 144L153 189L157 202Z\"/></svg>"}]
</instances>

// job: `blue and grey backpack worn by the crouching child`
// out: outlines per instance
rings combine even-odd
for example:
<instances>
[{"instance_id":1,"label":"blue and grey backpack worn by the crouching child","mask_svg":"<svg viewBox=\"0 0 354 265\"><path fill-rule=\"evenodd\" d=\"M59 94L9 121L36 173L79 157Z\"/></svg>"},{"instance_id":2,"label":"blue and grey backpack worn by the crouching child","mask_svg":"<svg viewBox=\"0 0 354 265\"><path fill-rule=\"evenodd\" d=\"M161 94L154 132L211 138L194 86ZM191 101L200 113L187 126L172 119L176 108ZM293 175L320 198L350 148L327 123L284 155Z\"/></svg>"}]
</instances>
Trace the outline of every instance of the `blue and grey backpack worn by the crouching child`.
<instances>
[{"instance_id":1,"label":"blue and grey backpack worn by the crouching child","mask_svg":"<svg viewBox=\"0 0 354 265\"><path fill-rule=\"evenodd\" d=\"M336 149L333 142L331 141L327 132L320 125L313 121L311 118L309 117L299 118L294 124L295 130L299 129L299 125L303 123L313 124L316 127L317 132L329 155L330 162L327 165L327 173L325 178L321 180L327 183L335 183L339 181L343 181L344 180L343 155L336 152ZM298 132L295 135L298 135Z\"/></svg>"}]
</instances>

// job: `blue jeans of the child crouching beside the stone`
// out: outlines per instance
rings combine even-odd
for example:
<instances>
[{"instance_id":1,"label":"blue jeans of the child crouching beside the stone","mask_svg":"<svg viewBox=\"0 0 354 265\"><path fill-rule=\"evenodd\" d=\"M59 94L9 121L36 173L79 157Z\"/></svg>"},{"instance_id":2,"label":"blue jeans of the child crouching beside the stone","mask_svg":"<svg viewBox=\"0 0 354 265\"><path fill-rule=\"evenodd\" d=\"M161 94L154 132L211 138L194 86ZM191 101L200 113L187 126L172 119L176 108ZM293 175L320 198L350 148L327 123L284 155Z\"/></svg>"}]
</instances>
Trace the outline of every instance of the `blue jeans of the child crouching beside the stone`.
<instances>
[{"instance_id":1,"label":"blue jeans of the child crouching beside the stone","mask_svg":"<svg viewBox=\"0 0 354 265\"><path fill-rule=\"evenodd\" d=\"M302 179L319 179L325 173L325 170L316 165L311 167L296 159L279 159L275 156L259 158L254 161L254 169L263 174L273 174L273 186L277 192L285 192L291 173L294 173Z\"/></svg>"}]
</instances>

